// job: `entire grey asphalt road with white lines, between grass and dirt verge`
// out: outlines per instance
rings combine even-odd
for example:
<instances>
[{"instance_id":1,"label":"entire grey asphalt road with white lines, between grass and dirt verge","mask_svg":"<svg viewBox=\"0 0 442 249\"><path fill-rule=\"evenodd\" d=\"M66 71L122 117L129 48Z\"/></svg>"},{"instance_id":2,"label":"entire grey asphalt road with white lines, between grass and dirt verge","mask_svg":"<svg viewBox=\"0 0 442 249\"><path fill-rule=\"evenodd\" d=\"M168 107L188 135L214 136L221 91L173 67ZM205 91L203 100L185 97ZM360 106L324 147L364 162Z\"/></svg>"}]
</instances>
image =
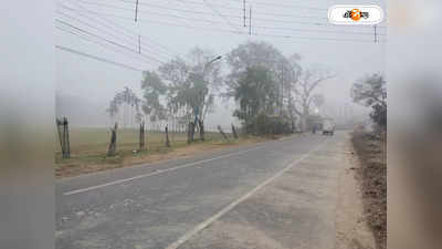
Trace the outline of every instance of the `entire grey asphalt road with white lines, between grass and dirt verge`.
<instances>
[{"instance_id":1,"label":"entire grey asphalt road with white lines, between grass and dirt verge","mask_svg":"<svg viewBox=\"0 0 442 249\"><path fill-rule=\"evenodd\" d=\"M333 248L344 133L56 183L57 249Z\"/></svg>"}]
</instances>

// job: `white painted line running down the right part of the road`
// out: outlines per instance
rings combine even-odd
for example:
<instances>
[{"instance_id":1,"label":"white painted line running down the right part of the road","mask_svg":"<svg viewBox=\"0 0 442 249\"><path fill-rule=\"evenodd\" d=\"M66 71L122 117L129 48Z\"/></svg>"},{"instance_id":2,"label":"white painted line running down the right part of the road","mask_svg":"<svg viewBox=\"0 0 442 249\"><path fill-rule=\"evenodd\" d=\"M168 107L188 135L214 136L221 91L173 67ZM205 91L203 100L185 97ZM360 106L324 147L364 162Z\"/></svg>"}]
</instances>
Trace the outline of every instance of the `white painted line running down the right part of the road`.
<instances>
[{"instance_id":1,"label":"white painted line running down the right part of the road","mask_svg":"<svg viewBox=\"0 0 442 249\"><path fill-rule=\"evenodd\" d=\"M282 176L284 173L286 173L287 170L290 170L291 168L293 168L294 166L296 166L298 163L301 163L302 160L304 160L306 157L308 157L309 155L312 155L312 153L315 153L316 151L318 151L322 146L324 146L326 143L328 143L328 141L323 142L322 144L319 144L317 147L315 147L314 149L309 151L307 154L303 155L301 158L291 162L288 164L287 167L285 167L284 169L282 169L281 172L276 173L274 176L270 177L269 179L266 179L264 183L260 184L259 186L256 186L255 188L253 188L251 191L249 191L248 194L245 194L244 196L240 197L239 199L236 199L235 201L231 203L229 206L224 207L221 211L217 212L214 216L208 218L207 220L204 220L203 222L199 224L196 228L193 228L192 230L186 232L181 238L179 238L177 241L175 241L173 243L169 245L166 249L178 249L181 245L183 245L185 242L187 242L190 238L192 238L194 235L197 235L198 232L200 232L201 230L203 230L206 227L208 227L210 224L214 222L215 220L218 220L221 216L225 215L228 211L232 210L234 207L236 207L239 204L241 204L242 201L246 200L248 198L250 198L252 195L254 195L256 191L259 191L260 189L262 189L263 187L265 187L266 185L269 185L270 183L272 183L273 180L275 180L276 178L278 178L280 176Z\"/></svg>"}]
</instances>

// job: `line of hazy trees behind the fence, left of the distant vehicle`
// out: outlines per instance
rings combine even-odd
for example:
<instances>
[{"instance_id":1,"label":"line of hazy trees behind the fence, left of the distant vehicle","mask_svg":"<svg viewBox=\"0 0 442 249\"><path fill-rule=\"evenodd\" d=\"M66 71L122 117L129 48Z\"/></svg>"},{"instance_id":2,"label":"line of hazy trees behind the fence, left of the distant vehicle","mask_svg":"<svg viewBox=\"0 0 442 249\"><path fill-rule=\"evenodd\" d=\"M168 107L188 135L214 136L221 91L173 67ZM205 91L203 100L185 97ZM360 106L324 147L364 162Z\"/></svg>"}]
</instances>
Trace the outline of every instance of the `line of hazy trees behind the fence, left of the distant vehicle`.
<instances>
[{"instance_id":1,"label":"line of hazy trees behind the fence, left of the distant vehicle","mask_svg":"<svg viewBox=\"0 0 442 249\"><path fill-rule=\"evenodd\" d=\"M319 66L304 68L303 58L285 56L266 42L246 42L220 55L200 48L173 58L157 70L143 73L143 97L129 89L115 95L107 110L119 106L136 111L137 121L170 121L197 129L203 139L204 123L214 111L215 98L234 100L233 115L243 132L253 134L305 131L307 118L325 98L317 86L334 75ZM227 66L224 66L227 65ZM141 114L143 112L143 114Z\"/></svg>"}]
</instances>

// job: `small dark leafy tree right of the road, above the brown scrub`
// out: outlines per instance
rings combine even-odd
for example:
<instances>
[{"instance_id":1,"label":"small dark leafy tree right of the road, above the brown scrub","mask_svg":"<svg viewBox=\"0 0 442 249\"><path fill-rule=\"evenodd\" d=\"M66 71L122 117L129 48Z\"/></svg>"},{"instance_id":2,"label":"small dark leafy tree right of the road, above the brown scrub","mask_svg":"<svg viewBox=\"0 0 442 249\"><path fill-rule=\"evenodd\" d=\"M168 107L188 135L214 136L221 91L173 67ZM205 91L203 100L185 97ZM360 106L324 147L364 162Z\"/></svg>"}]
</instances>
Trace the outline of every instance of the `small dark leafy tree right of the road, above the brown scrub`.
<instances>
[{"instance_id":1,"label":"small dark leafy tree right of the road, above the brown scrub","mask_svg":"<svg viewBox=\"0 0 442 249\"><path fill-rule=\"evenodd\" d=\"M387 128L387 81L382 74L367 75L354 83L350 93L355 103L371 107L371 120Z\"/></svg>"}]
</instances>

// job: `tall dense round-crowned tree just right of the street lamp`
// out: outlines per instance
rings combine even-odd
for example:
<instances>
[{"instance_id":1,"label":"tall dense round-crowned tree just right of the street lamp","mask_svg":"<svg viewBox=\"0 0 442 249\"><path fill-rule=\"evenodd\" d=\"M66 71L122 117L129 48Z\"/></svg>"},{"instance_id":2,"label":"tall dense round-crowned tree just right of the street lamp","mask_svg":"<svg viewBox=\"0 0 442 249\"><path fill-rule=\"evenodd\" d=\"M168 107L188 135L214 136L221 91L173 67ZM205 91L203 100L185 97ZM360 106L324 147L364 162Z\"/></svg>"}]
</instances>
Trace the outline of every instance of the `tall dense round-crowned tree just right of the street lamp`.
<instances>
[{"instance_id":1,"label":"tall dense round-crowned tree just right of the street lamp","mask_svg":"<svg viewBox=\"0 0 442 249\"><path fill-rule=\"evenodd\" d=\"M236 100L240 108L235 115L240 120L246 118L245 123L248 123L253 115L257 114L256 112L283 116L284 102L287 97L284 92L286 92L291 75L287 60L276 48L266 42L246 42L233 49L228 54L227 61L230 72L225 81L224 96ZM263 79L255 79L256 75L263 76L266 82L263 82ZM251 87L254 83L266 87L267 92L262 93L261 90ZM238 94L243 95L239 98ZM249 95L256 95L255 97L260 98L253 101L248 97Z\"/></svg>"}]
</instances>

